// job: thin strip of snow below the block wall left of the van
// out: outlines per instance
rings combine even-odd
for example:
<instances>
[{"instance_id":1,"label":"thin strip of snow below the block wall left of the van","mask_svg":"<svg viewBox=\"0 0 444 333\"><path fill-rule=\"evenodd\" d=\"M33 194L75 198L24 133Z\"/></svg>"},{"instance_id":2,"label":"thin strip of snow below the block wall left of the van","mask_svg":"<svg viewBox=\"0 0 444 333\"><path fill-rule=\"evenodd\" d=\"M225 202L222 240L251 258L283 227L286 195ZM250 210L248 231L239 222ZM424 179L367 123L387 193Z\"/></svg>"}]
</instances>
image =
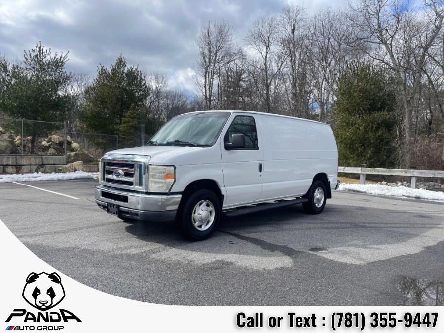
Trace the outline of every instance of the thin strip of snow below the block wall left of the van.
<instances>
[{"instance_id":1,"label":"thin strip of snow below the block wall left of the van","mask_svg":"<svg viewBox=\"0 0 444 333\"><path fill-rule=\"evenodd\" d=\"M98 172L67 172L67 173L49 173L44 174L41 172L35 172L32 174L3 174L0 175L0 183L11 182L36 182L36 181L61 181L67 179L84 179L84 178L99 178Z\"/></svg>"}]
</instances>

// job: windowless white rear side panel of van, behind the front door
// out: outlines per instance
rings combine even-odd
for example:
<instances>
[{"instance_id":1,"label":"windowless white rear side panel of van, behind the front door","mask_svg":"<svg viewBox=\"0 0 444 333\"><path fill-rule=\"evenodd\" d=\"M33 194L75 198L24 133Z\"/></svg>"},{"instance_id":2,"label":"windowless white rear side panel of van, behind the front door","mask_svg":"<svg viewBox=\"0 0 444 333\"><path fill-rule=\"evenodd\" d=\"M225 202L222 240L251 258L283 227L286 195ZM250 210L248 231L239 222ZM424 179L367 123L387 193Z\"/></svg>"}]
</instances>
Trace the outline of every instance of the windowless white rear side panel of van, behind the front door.
<instances>
[{"instance_id":1,"label":"windowless white rear side panel of van, behind the front door","mask_svg":"<svg viewBox=\"0 0 444 333\"><path fill-rule=\"evenodd\" d=\"M305 194L318 173L337 181L337 147L330 126L297 118L261 115L262 199Z\"/></svg>"}]
</instances>

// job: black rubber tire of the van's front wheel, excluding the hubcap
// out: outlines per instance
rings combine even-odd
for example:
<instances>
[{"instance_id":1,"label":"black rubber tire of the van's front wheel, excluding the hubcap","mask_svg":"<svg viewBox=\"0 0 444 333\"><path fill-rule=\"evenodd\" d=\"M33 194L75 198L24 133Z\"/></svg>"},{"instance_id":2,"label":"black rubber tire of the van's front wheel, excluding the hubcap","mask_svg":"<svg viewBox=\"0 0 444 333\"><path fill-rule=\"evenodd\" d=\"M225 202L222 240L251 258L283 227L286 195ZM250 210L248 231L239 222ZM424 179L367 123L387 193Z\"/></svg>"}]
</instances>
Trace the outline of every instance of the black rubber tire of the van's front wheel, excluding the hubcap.
<instances>
[{"instance_id":1,"label":"black rubber tire of the van's front wheel, excluding the hubcap","mask_svg":"<svg viewBox=\"0 0 444 333\"><path fill-rule=\"evenodd\" d=\"M193 223L193 210L195 206L201 201L209 201L214 208L213 222L208 223L209 227L205 230L198 230L198 227ZM179 228L185 238L193 241L201 241L209 238L216 230L216 226L219 224L222 218L221 202L217 195L208 189L200 189L191 194L178 211L176 216ZM211 209L210 209L211 210ZM211 218L209 218L211 219ZM202 226L205 227L205 226Z\"/></svg>"}]
</instances>

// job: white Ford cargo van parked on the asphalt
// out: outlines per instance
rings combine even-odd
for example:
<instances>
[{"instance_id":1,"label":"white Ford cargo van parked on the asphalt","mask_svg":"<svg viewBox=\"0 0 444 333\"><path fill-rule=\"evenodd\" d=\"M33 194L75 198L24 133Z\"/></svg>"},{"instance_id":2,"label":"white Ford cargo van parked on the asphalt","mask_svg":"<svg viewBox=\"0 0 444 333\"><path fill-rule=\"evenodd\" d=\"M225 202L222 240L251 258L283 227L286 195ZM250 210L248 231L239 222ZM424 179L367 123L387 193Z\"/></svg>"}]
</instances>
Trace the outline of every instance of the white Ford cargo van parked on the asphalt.
<instances>
[{"instance_id":1,"label":"white Ford cargo van parked on the asphalt","mask_svg":"<svg viewBox=\"0 0 444 333\"><path fill-rule=\"evenodd\" d=\"M100 170L99 207L123 220L176 219L193 240L222 214L297 203L321 213L339 185L329 125L250 111L179 115L145 146L105 154Z\"/></svg>"}]
</instances>

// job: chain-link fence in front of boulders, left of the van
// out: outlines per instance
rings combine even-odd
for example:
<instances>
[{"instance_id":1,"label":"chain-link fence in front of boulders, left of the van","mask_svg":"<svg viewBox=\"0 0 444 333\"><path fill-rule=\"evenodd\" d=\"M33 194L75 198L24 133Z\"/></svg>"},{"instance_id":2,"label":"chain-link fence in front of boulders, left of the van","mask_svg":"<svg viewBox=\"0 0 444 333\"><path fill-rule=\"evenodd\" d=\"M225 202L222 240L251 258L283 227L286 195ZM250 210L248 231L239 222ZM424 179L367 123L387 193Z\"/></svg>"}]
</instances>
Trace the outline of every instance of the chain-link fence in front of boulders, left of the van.
<instances>
[{"instance_id":1,"label":"chain-link fence in front of boulders, left of the van","mask_svg":"<svg viewBox=\"0 0 444 333\"><path fill-rule=\"evenodd\" d=\"M93 162L117 148L117 135L71 132L65 122L0 117L0 155L66 155L68 161L82 155Z\"/></svg>"}]
</instances>

